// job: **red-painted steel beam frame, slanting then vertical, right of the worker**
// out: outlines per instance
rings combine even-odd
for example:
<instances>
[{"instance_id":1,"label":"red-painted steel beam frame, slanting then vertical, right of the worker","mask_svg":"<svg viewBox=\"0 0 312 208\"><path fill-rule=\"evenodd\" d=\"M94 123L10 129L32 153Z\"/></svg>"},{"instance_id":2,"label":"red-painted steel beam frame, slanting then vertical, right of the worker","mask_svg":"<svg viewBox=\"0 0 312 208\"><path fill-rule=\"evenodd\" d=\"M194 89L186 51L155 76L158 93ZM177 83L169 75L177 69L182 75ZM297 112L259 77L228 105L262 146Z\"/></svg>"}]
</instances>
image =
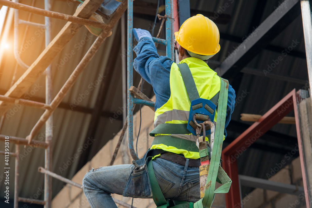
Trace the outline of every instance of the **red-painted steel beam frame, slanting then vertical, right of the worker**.
<instances>
[{"instance_id":1,"label":"red-painted steel beam frame, slanting then vertical, right of the worker","mask_svg":"<svg viewBox=\"0 0 312 208\"><path fill-rule=\"evenodd\" d=\"M241 207L237 158L243 152L245 152L252 143L256 142L257 139L259 139L263 134L265 134L270 128L272 128L276 123L278 123L294 109L294 100L296 100L295 89L293 89L289 94L287 94L283 99L275 104L257 122L252 124L248 129L246 129L246 131L244 131L222 151L224 170L232 180L230 191L225 195L227 207Z\"/></svg>"}]
</instances>

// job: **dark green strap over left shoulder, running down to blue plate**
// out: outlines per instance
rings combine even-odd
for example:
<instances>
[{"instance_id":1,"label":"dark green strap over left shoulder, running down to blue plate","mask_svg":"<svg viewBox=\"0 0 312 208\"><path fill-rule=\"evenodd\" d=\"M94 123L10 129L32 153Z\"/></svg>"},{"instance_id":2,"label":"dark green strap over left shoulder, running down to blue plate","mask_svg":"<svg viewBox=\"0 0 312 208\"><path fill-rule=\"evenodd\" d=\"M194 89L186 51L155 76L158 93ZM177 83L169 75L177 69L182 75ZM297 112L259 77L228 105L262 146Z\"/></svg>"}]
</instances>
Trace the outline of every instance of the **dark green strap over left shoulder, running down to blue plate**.
<instances>
[{"instance_id":1,"label":"dark green strap over left shoulder, running down to blue plate","mask_svg":"<svg viewBox=\"0 0 312 208\"><path fill-rule=\"evenodd\" d=\"M179 70L181 72L183 82L188 93L188 98L192 102L199 97L194 78L192 76L191 70L186 63L178 64Z\"/></svg>"}]
</instances>

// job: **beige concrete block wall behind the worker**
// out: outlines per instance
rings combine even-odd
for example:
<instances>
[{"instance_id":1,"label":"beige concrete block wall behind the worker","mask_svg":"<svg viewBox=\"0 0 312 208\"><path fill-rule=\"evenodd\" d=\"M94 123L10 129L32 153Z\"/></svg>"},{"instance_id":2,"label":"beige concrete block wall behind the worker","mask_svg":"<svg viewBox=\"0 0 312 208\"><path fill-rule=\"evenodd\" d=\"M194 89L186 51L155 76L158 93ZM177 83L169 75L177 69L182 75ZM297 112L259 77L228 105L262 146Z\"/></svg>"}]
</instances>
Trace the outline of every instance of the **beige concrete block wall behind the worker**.
<instances>
[{"instance_id":1,"label":"beige concrete block wall behind the worker","mask_svg":"<svg viewBox=\"0 0 312 208\"><path fill-rule=\"evenodd\" d=\"M140 117L139 112L134 115L134 147L139 131ZM149 149L153 138L149 136L149 132L154 129L154 111L149 107L142 107L142 122L139 135L138 155L141 158ZM74 182L82 184L82 178L85 173L91 168L107 166L110 163L111 157L115 150L120 132L110 140L93 158L89 161L76 175L71 179ZM120 147L119 153L115 160L115 165L130 164L132 158L129 155L127 141L124 138ZM292 165L287 166L280 172L271 177L270 180L284 182L288 184L298 184L302 186L302 177L300 171L300 162L298 158L293 161ZM218 185L217 185L218 186ZM112 195L114 198L131 204L132 198L123 197L116 194ZM300 200L297 196L280 194L274 191L265 191L263 189L255 189L251 192L251 198L245 198L243 203L246 208L288 208L289 204ZM304 201L300 201L304 203ZM296 207L302 207L300 206ZM134 199L133 206L138 208L154 208L153 199ZM75 186L66 185L52 200L52 208L89 208L90 205L82 191ZM119 206L122 207L122 206ZM217 194L213 202L212 208L225 208L225 194ZM293 208L293 207L292 207Z\"/></svg>"}]
</instances>

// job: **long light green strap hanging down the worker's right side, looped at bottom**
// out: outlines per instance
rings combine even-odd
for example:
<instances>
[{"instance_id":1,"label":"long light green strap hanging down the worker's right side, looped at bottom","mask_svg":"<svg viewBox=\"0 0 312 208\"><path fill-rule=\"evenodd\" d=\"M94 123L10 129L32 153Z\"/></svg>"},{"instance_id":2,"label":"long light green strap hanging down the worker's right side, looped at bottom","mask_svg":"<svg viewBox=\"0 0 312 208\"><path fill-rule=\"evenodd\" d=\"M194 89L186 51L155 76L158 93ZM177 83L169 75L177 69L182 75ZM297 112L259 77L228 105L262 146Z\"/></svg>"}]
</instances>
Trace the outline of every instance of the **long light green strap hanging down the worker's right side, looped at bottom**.
<instances>
[{"instance_id":1,"label":"long light green strap hanging down the worker's right side, looped at bottom","mask_svg":"<svg viewBox=\"0 0 312 208\"><path fill-rule=\"evenodd\" d=\"M221 158L221 150L223 143L223 134L225 128L225 118L227 114L227 93L228 81L221 78L221 89L219 95L219 108L217 111L217 125L212 148L212 157L210 160L207 183L204 197L194 204L194 208L210 208L214 199L215 193L227 193L231 186L231 179L227 176L221 166L219 166ZM217 177L222 182L217 190L215 190Z\"/></svg>"}]
</instances>

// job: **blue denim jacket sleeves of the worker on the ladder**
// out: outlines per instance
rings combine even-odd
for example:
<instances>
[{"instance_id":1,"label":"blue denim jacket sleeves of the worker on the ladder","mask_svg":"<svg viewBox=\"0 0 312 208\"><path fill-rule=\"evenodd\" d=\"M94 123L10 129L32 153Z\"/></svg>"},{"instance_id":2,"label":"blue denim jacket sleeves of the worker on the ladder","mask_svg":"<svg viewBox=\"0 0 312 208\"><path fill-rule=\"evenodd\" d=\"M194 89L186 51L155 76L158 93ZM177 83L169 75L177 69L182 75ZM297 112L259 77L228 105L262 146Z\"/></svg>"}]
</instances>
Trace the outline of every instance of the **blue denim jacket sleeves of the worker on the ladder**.
<instances>
[{"instance_id":1,"label":"blue denim jacket sleeves of the worker on the ladder","mask_svg":"<svg viewBox=\"0 0 312 208\"><path fill-rule=\"evenodd\" d=\"M170 69L173 60L167 56L159 56L154 41L149 37L140 39L137 46L134 47L134 52L137 57L133 61L134 69L153 86L156 101L155 110L167 103L170 98ZM235 91L229 85L227 98L227 116L225 120L225 127L231 120L231 114L234 110ZM227 132L224 129L224 135Z\"/></svg>"}]
</instances>

